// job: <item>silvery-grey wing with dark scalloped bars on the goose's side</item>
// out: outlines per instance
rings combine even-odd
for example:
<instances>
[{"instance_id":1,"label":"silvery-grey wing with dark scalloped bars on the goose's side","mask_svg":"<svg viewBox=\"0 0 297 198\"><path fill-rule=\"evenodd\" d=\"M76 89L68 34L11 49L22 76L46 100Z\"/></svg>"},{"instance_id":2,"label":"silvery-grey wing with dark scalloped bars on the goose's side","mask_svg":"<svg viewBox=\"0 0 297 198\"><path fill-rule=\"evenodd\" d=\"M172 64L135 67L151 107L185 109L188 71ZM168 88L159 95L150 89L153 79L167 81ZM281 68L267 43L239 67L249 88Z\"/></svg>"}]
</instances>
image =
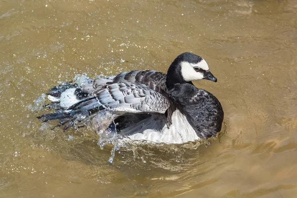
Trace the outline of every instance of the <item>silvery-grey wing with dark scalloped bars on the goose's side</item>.
<instances>
[{"instance_id":1,"label":"silvery-grey wing with dark scalloped bars on the goose's side","mask_svg":"<svg viewBox=\"0 0 297 198\"><path fill-rule=\"evenodd\" d=\"M113 83L105 89L94 90L103 108L130 113L165 113L169 101L143 84Z\"/></svg>"}]
</instances>

